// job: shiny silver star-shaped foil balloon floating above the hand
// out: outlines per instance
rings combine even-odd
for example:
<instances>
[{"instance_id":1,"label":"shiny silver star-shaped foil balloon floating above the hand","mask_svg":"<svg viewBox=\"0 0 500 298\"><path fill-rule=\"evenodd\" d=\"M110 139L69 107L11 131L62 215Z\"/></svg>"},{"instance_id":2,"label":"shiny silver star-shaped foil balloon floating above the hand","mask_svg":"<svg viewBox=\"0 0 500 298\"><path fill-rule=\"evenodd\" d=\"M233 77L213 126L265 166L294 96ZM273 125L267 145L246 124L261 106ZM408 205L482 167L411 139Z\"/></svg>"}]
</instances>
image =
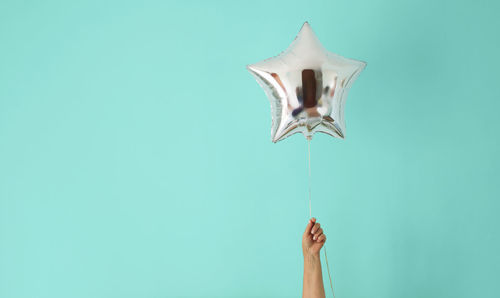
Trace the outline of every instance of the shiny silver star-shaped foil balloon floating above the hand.
<instances>
[{"instance_id":1,"label":"shiny silver star-shaped foil balloon floating above the hand","mask_svg":"<svg viewBox=\"0 0 500 298\"><path fill-rule=\"evenodd\" d=\"M347 92L365 66L327 51L307 22L287 50L248 65L271 102L271 140L298 132L343 139Z\"/></svg>"}]
</instances>

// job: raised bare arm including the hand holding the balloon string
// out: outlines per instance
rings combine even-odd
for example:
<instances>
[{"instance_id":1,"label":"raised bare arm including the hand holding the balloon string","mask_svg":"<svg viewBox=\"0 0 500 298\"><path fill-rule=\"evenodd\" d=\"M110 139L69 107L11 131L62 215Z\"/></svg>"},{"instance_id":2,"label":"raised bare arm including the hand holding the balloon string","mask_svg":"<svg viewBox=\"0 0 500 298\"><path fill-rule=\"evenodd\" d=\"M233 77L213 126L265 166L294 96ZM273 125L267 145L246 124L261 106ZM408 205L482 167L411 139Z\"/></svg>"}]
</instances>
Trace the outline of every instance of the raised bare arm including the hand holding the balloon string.
<instances>
[{"instance_id":1,"label":"raised bare arm including the hand holding the balloon string","mask_svg":"<svg viewBox=\"0 0 500 298\"><path fill-rule=\"evenodd\" d=\"M313 217L307 224L302 236L302 252L304 254L304 287L303 298L325 298L323 276L319 252L326 241L323 229Z\"/></svg>"}]
</instances>

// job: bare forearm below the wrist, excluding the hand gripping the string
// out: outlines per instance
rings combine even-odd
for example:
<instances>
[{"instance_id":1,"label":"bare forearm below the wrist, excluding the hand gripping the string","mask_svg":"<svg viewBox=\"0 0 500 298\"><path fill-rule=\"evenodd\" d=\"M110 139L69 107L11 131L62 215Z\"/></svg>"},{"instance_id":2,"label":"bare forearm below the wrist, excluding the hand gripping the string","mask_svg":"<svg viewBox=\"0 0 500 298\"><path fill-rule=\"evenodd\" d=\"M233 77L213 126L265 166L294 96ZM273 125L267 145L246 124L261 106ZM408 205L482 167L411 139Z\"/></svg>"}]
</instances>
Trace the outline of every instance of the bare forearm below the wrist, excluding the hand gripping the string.
<instances>
[{"instance_id":1,"label":"bare forearm below the wrist, excluding the hand gripping the string","mask_svg":"<svg viewBox=\"0 0 500 298\"><path fill-rule=\"evenodd\" d=\"M319 253L304 255L304 288L302 289L302 298L325 298Z\"/></svg>"}]
</instances>

